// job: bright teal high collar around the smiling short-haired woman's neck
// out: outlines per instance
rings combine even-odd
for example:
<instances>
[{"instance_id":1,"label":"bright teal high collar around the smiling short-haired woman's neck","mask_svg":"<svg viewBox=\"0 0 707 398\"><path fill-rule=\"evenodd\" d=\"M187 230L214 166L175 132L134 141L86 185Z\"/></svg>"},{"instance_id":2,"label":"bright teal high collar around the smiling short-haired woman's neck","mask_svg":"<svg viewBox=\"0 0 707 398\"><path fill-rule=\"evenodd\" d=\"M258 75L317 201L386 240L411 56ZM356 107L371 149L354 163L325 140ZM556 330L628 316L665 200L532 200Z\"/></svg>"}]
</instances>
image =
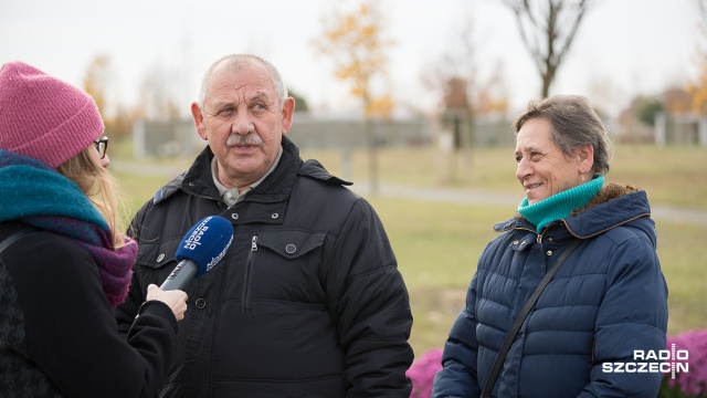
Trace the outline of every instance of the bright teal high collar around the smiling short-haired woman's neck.
<instances>
[{"instance_id":1,"label":"bright teal high collar around the smiling short-haired woman's neck","mask_svg":"<svg viewBox=\"0 0 707 398\"><path fill-rule=\"evenodd\" d=\"M573 210L587 206L603 185L604 176L598 176L589 182L552 195L534 205L528 205L528 198L525 198L518 205L518 213L536 226L539 234L545 226L567 218Z\"/></svg>"}]
</instances>

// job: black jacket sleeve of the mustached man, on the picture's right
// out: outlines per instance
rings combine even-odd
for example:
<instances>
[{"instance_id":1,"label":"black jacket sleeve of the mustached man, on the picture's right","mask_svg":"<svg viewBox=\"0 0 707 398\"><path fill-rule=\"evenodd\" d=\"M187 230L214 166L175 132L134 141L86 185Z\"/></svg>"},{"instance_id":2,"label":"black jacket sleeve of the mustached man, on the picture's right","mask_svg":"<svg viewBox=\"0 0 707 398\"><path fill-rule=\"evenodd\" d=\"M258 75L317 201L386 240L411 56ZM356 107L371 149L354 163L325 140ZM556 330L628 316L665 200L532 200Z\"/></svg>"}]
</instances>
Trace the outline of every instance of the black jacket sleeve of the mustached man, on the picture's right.
<instances>
[{"instance_id":1,"label":"black jacket sleeve of the mustached man, on the picture's right","mask_svg":"<svg viewBox=\"0 0 707 398\"><path fill-rule=\"evenodd\" d=\"M346 349L347 397L409 397L412 313L383 226L359 199L331 256L330 308Z\"/></svg>"}]
</instances>

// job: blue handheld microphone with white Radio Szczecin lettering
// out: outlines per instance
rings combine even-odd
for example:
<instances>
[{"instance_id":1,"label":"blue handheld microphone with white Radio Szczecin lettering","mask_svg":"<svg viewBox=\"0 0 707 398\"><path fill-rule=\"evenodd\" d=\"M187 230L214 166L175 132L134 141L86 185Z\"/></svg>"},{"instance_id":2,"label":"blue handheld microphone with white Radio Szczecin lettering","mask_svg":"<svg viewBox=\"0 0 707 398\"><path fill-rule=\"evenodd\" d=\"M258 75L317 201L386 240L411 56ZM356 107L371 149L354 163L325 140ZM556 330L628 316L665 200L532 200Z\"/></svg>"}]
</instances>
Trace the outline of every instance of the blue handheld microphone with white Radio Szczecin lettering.
<instances>
[{"instance_id":1,"label":"blue handheld microphone with white Radio Szczecin lettering","mask_svg":"<svg viewBox=\"0 0 707 398\"><path fill-rule=\"evenodd\" d=\"M225 256L233 241L233 226L223 217L209 216L197 222L182 238L175 259L179 261L159 289L184 290Z\"/></svg>"}]
</instances>

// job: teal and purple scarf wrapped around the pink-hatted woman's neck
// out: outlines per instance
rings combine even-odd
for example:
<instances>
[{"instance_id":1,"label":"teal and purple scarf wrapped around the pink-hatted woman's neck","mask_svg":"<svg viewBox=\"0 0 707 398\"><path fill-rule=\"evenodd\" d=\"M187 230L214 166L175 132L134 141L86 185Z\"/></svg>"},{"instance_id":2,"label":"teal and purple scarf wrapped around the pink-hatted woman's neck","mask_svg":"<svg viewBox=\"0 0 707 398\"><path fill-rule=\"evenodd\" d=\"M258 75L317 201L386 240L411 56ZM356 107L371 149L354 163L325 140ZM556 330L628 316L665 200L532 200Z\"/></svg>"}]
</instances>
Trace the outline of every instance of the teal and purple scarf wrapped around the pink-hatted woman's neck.
<instances>
[{"instance_id":1,"label":"teal and purple scarf wrapped around the pink-hatted woman's neck","mask_svg":"<svg viewBox=\"0 0 707 398\"><path fill-rule=\"evenodd\" d=\"M75 241L94 259L112 307L128 293L137 243L113 249L108 223L72 180L45 164L0 149L0 222L18 220Z\"/></svg>"}]
</instances>

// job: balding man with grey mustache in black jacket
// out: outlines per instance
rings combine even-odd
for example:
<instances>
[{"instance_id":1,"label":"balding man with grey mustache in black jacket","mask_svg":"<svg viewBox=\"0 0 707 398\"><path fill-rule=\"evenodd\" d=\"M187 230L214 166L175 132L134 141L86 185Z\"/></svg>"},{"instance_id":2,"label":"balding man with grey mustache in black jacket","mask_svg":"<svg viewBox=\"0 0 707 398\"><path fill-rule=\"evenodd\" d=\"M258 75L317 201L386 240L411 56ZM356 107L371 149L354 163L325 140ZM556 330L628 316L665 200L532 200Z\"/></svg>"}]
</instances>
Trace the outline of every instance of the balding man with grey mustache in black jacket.
<instances>
[{"instance_id":1,"label":"balding man with grey mustache in black jacket","mask_svg":"<svg viewBox=\"0 0 707 398\"><path fill-rule=\"evenodd\" d=\"M127 333L191 226L232 221L226 256L186 292L177 358L159 397L408 397L412 315L372 207L285 134L295 101L254 55L215 62L191 105L208 143L134 218L139 251L116 310Z\"/></svg>"}]
</instances>

